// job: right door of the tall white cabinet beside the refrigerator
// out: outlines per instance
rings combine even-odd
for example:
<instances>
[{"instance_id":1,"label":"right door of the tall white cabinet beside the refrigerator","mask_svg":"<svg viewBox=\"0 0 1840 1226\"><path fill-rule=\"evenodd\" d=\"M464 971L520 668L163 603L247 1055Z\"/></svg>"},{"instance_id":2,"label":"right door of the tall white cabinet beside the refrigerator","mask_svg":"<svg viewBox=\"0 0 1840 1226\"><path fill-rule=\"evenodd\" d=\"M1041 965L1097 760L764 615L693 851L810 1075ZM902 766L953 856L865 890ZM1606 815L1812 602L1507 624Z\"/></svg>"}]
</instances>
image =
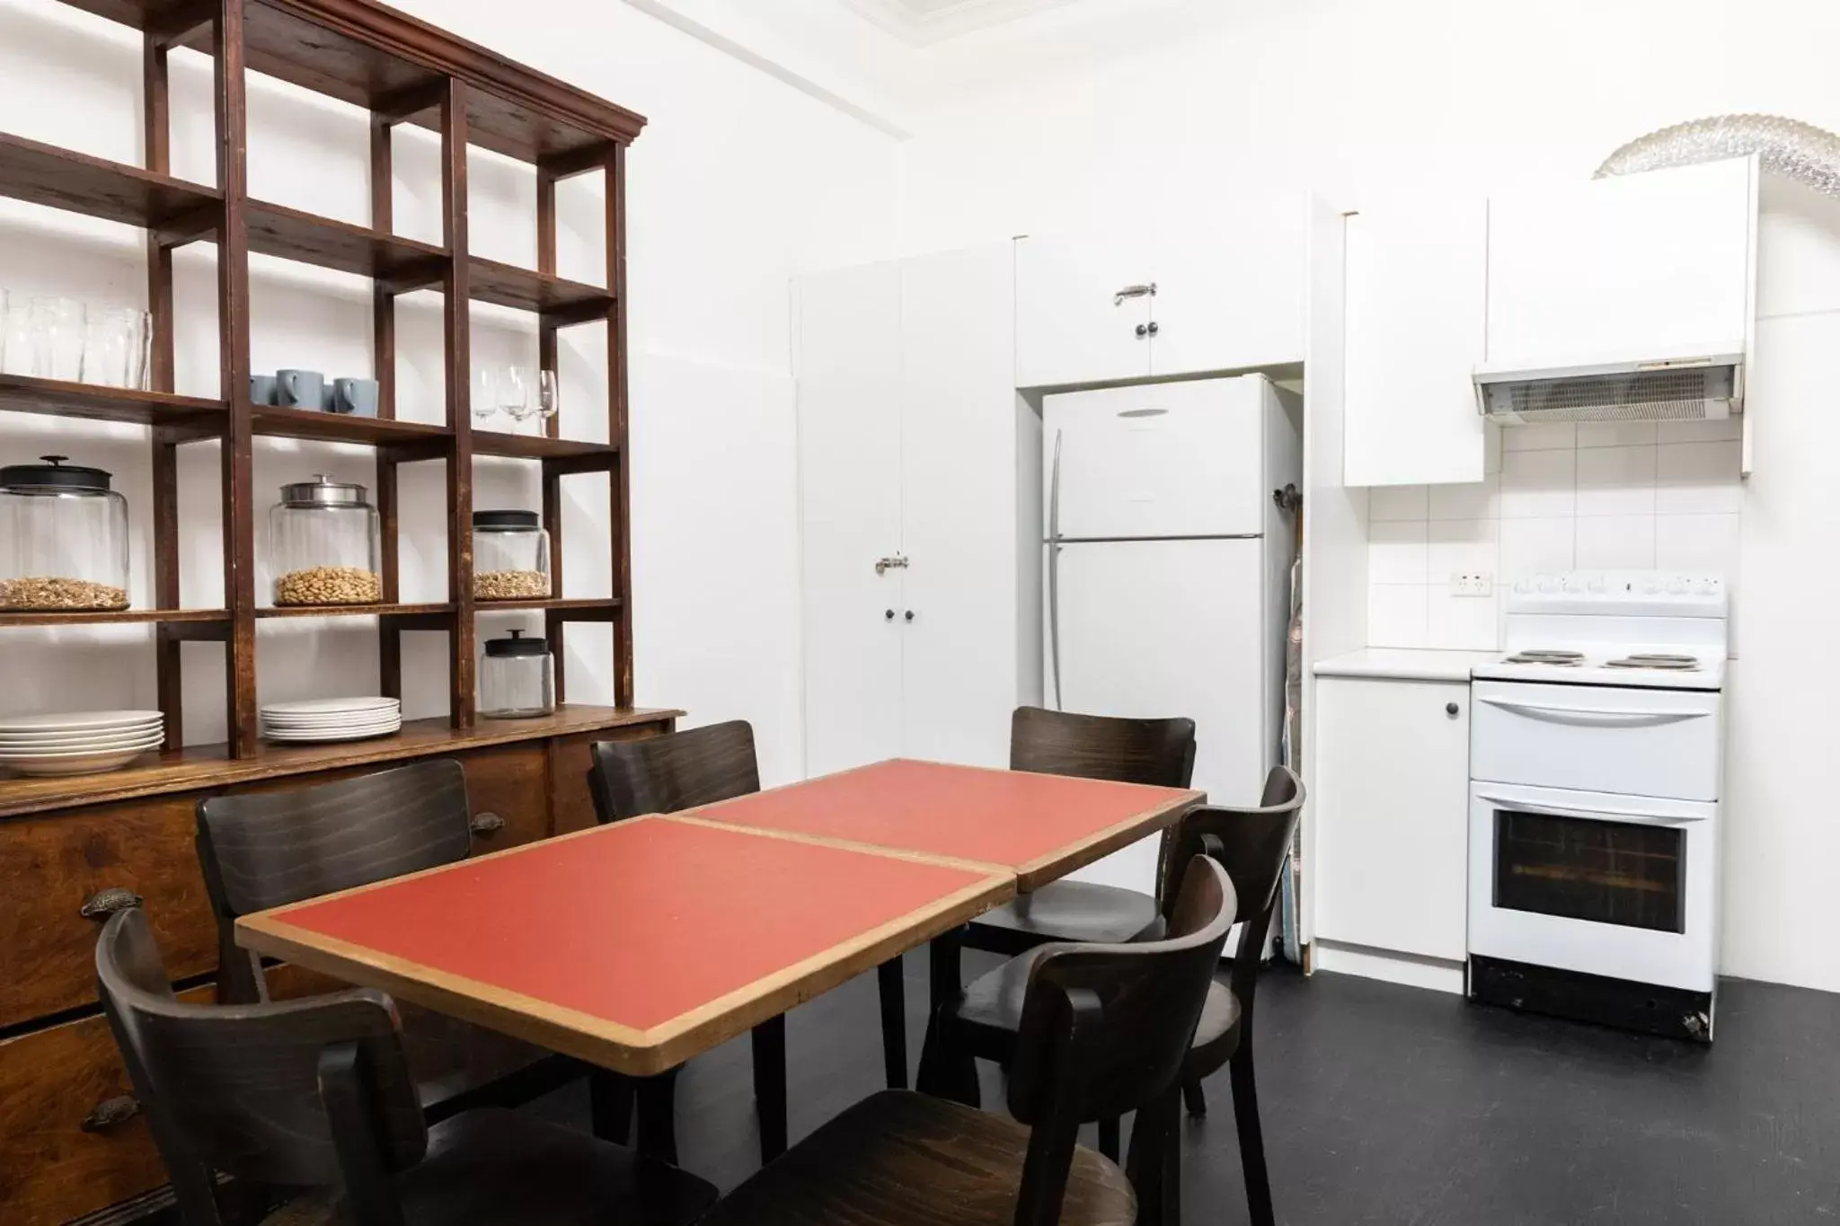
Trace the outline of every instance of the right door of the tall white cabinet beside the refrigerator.
<instances>
[{"instance_id":1,"label":"right door of the tall white cabinet beside the refrigerator","mask_svg":"<svg viewBox=\"0 0 1840 1226\"><path fill-rule=\"evenodd\" d=\"M1014 318L1008 244L902 265L907 757L1008 765L1019 577ZM1030 540L1030 570L1034 551Z\"/></svg>"}]
</instances>

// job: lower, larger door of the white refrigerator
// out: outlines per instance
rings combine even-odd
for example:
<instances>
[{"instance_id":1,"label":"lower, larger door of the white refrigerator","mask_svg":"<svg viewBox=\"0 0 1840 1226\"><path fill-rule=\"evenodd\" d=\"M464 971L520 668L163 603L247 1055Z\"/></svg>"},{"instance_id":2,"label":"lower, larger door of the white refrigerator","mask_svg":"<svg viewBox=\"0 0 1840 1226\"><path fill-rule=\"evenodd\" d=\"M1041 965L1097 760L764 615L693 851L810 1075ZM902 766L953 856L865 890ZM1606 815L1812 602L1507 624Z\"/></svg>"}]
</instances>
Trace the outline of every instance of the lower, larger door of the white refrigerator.
<instances>
[{"instance_id":1,"label":"lower, larger door of the white refrigerator","mask_svg":"<svg viewBox=\"0 0 1840 1226\"><path fill-rule=\"evenodd\" d=\"M1056 546L1047 546L1054 550ZM1051 568L1049 704L1194 721L1194 787L1253 803L1277 761L1277 643L1262 618L1262 542L1062 544ZM1058 654L1058 658L1056 658ZM1060 691L1054 691L1054 676ZM1157 840L1075 877L1152 891Z\"/></svg>"}]
</instances>

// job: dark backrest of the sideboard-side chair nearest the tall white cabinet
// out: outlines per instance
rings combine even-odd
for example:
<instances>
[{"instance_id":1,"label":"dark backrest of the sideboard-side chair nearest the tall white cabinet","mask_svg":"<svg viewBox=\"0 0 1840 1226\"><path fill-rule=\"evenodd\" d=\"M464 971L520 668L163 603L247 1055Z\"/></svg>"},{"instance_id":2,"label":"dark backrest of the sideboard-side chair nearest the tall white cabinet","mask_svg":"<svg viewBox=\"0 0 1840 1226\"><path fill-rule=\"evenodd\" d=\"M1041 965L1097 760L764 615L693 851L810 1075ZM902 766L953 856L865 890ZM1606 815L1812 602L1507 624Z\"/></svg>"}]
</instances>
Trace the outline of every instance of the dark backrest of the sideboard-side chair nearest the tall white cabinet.
<instances>
[{"instance_id":1,"label":"dark backrest of the sideboard-side chair nearest the tall white cabinet","mask_svg":"<svg viewBox=\"0 0 1840 1226\"><path fill-rule=\"evenodd\" d=\"M602 825L747 796L760 790L754 728L736 719L644 741L600 741L587 779Z\"/></svg>"}]
</instances>

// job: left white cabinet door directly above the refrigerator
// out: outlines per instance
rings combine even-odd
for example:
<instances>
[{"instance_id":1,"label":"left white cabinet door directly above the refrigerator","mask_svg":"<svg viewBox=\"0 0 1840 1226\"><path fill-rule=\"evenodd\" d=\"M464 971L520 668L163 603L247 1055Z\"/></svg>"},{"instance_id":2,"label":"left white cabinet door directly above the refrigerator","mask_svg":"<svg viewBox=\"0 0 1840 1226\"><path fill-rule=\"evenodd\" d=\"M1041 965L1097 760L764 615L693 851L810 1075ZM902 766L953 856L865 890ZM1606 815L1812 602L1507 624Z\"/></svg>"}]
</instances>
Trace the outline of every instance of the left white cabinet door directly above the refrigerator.
<instances>
[{"instance_id":1,"label":"left white cabinet door directly above the refrigerator","mask_svg":"<svg viewBox=\"0 0 1840 1226\"><path fill-rule=\"evenodd\" d=\"M1152 279L1135 239L1018 239L1016 386L1148 377ZM1121 298L1137 287L1144 292Z\"/></svg>"}]
</instances>

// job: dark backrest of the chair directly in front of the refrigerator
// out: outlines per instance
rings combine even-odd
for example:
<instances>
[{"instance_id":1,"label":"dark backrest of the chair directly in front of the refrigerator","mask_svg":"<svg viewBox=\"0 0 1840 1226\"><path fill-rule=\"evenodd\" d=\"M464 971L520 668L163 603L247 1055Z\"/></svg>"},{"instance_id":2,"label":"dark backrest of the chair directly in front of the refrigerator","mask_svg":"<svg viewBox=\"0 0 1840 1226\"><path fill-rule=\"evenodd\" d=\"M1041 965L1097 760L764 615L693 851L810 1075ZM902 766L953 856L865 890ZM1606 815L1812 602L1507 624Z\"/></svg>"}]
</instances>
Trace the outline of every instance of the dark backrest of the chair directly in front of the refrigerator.
<instances>
[{"instance_id":1,"label":"dark backrest of the chair directly in front of the refrigerator","mask_svg":"<svg viewBox=\"0 0 1840 1226\"><path fill-rule=\"evenodd\" d=\"M1016 708L1010 717L1010 770L1189 787L1194 774L1194 721Z\"/></svg>"}]
</instances>

